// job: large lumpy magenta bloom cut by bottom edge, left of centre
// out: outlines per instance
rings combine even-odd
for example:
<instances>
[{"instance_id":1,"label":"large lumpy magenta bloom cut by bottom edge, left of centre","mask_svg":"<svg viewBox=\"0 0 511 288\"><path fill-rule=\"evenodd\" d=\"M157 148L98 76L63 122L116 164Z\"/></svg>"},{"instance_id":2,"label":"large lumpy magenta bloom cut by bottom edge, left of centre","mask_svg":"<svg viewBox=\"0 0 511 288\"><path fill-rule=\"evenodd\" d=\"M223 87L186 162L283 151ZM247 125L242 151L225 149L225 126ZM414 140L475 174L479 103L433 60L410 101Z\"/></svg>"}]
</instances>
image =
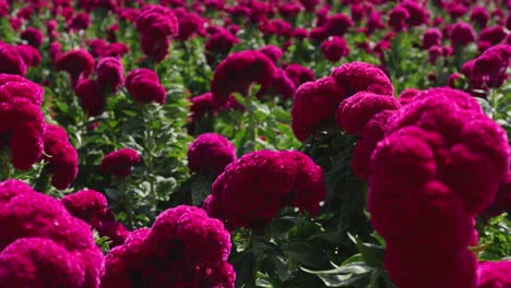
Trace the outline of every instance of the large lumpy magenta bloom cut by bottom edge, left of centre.
<instances>
[{"instance_id":1,"label":"large lumpy magenta bloom cut by bottom edge, left of centre","mask_svg":"<svg viewBox=\"0 0 511 288\"><path fill-rule=\"evenodd\" d=\"M222 221L201 208L177 206L110 250L100 287L234 288L236 274L227 263L230 247Z\"/></svg>"}]
</instances>

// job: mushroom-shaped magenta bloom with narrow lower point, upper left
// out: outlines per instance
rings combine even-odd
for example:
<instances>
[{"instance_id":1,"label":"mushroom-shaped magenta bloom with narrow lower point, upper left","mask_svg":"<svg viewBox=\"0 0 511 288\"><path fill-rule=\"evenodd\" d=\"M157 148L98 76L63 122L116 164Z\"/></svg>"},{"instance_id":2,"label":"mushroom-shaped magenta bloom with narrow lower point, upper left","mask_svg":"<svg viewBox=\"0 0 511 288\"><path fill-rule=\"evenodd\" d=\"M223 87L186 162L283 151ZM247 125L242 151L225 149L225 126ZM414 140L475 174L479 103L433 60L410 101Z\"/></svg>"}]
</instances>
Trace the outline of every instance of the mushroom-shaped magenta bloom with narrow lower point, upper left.
<instances>
[{"instance_id":1,"label":"mushroom-shaped magenta bloom with narrow lower point, upper left","mask_svg":"<svg viewBox=\"0 0 511 288\"><path fill-rule=\"evenodd\" d=\"M93 73L94 63L94 58L90 52L78 49L67 51L59 57L56 62L56 68L57 71L66 71L69 73L71 86L74 88L82 75L86 77Z\"/></svg>"}]
</instances>

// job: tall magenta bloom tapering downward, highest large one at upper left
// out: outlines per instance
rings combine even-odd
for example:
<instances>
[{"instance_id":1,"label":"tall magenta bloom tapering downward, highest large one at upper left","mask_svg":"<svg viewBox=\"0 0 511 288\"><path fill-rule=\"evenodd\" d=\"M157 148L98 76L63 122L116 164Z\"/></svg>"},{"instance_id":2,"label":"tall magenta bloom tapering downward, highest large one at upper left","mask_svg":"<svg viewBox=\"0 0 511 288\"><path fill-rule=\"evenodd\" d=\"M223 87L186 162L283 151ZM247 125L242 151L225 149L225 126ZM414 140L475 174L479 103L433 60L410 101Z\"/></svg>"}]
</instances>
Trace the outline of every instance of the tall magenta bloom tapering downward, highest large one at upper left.
<instances>
[{"instance_id":1,"label":"tall magenta bloom tapering downward, highest large one at upper left","mask_svg":"<svg viewBox=\"0 0 511 288\"><path fill-rule=\"evenodd\" d=\"M136 29L140 34L142 51L159 63L167 57L170 45L168 38L178 34L179 23L170 9L148 4L140 10Z\"/></svg>"}]
</instances>

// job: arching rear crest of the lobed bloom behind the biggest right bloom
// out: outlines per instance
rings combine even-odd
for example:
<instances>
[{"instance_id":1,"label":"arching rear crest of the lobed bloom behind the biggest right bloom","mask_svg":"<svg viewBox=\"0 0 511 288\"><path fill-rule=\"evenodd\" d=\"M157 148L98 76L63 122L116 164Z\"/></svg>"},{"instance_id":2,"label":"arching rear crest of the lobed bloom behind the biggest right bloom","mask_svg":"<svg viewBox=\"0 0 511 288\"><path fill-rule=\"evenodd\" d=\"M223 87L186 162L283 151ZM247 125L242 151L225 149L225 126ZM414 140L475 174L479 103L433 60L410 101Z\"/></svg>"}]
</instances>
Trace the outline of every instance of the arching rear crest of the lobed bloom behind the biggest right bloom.
<instances>
[{"instance_id":1,"label":"arching rear crest of the lobed bloom behind the biggest right bloom","mask_svg":"<svg viewBox=\"0 0 511 288\"><path fill-rule=\"evenodd\" d=\"M338 104L357 92L392 96L394 87L383 71L364 62L342 64L331 76L299 86L292 108L296 137L305 141L331 125Z\"/></svg>"}]
</instances>

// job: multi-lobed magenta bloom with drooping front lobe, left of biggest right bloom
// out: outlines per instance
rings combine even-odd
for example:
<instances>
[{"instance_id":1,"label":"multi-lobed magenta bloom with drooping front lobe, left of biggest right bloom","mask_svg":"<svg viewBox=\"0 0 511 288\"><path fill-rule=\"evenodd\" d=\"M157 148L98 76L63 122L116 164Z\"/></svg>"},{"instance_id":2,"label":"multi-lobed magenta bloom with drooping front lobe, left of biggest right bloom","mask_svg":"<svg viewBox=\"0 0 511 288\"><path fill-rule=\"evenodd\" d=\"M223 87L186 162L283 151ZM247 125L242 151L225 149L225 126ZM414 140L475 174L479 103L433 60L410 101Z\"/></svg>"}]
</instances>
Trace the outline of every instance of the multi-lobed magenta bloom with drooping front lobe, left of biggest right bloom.
<instances>
[{"instance_id":1,"label":"multi-lobed magenta bloom with drooping front lobe, left of biggest right bloom","mask_svg":"<svg viewBox=\"0 0 511 288\"><path fill-rule=\"evenodd\" d=\"M394 87L379 68L364 62L343 64L331 76L298 87L292 108L293 131L305 141L336 124L359 135L352 167L355 175L367 179L372 149L383 136L390 111L401 107L393 94Z\"/></svg>"}]
</instances>

